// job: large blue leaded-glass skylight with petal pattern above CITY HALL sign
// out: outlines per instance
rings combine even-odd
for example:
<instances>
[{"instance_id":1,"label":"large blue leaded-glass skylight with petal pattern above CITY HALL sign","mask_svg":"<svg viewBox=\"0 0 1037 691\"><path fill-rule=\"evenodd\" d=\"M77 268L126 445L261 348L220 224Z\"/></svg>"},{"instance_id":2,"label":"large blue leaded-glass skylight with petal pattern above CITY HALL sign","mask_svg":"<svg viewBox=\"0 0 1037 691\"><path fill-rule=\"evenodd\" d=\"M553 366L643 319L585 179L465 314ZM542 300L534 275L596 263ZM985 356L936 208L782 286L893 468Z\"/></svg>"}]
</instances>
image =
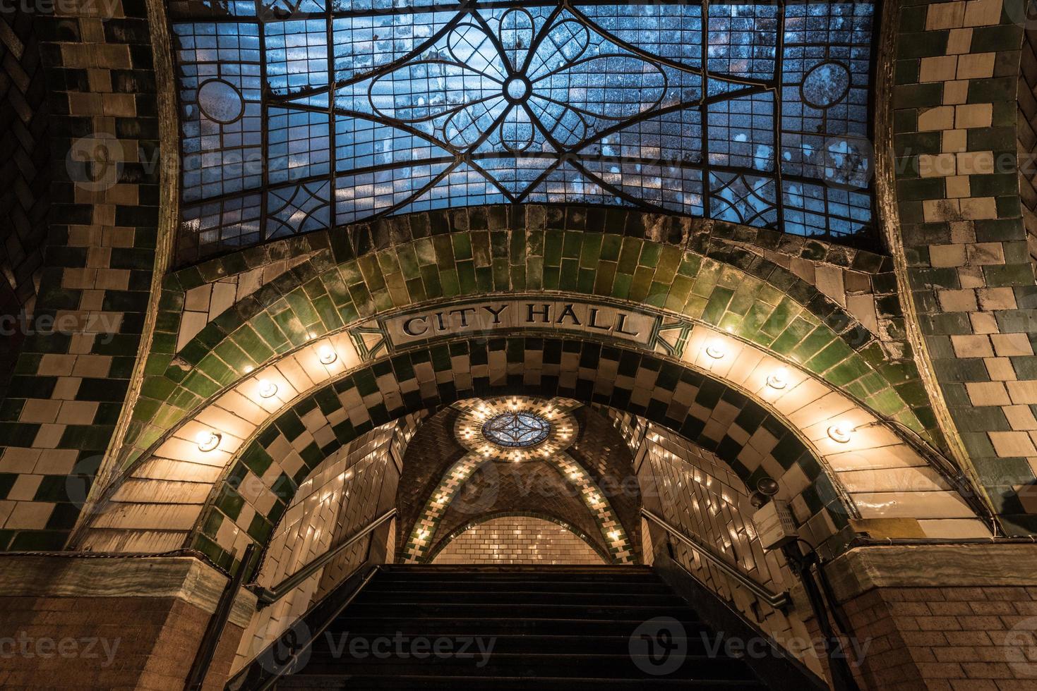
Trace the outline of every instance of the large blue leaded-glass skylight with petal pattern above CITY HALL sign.
<instances>
[{"instance_id":1,"label":"large blue leaded-glass skylight with petal pattern above CITY HALL sign","mask_svg":"<svg viewBox=\"0 0 1037 691\"><path fill-rule=\"evenodd\" d=\"M871 227L871 2L171 2L179 256L579 202Z\"/></svg>"}]
</instances>

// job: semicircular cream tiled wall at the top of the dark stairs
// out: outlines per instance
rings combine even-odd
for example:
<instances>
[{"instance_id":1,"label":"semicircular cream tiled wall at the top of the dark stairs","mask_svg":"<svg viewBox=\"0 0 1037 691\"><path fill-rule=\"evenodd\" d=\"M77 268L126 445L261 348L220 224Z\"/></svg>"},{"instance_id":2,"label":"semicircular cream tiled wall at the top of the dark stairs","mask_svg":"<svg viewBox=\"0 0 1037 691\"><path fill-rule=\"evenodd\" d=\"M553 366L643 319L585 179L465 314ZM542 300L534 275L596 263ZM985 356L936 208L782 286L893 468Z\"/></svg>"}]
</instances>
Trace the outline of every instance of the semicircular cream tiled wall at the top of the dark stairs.
<instances>
[{"instance_id":1,"label":"semicircular cream tiled wall at the top of the dark stairs","mask_svg":"<svg viewBox=\"0 0 1037 691\"><path fill-rule=\"evenodd\" d=\"M532 516L478 523L453 540L432 564L583 564L605 560L563 525Z\"/></svg>"}]
</instances>

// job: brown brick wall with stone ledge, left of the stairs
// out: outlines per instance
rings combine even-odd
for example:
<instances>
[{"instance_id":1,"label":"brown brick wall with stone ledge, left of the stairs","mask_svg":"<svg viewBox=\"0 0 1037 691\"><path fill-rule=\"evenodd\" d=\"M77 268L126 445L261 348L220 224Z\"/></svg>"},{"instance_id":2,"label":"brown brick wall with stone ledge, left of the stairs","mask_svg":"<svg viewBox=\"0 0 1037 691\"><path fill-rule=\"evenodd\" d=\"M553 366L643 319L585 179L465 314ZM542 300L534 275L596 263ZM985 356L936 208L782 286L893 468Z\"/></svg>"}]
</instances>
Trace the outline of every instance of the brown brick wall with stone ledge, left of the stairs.
<instances>
[{"instance_id":1,"label":"brown brick wall with stone ledge, left of the stairs","mask_svg":"<svg viewBox=\"0 0 1037 691\"><path fill-rule=\"evenodd\" d=\"M4 557L0 687L183 688L225 584L187 556ZM243 594L232 608L206 691L223 688L254 602Z\"/></svg>"}]
</instances>

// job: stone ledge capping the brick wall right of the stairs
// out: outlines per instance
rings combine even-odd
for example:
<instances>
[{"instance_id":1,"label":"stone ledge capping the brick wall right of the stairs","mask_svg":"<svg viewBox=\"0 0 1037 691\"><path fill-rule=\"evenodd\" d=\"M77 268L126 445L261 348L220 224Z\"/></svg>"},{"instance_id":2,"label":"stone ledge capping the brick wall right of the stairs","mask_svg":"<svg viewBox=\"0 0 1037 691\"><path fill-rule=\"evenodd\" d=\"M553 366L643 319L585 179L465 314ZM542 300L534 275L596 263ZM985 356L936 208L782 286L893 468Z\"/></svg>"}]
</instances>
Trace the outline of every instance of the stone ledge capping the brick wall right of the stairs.
<instances>
[{"instance_id":1,"label":"stone ledge capping the brick wall right of the stairs","mask_svg":"<svg viewBox=\"0 0 1037 691\"><path fill-rule=\"evenodd\" d=\"M1037 543L854 547L824 571L840 602L876 587L1037 586Z\"/></svg>"}]
</instances>

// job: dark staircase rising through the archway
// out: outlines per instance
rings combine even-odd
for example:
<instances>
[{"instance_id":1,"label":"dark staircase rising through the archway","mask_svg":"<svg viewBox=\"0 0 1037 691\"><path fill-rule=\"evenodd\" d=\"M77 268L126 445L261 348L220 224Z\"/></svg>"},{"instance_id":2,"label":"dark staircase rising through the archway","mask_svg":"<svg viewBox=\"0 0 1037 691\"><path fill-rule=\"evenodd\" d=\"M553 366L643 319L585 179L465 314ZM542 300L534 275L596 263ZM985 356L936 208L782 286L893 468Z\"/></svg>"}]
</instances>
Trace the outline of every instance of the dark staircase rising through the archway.
<instances>
[{"instance_id":1,"label":"dark staircase rising through the archway","mask_svg":"<svg viewBox=\"0 0 1037 691\"><path fill-rule=\"evenodd\" d=\"M388 566L275 688L766 688L716 646L647 567Z\"/></svg>"}]
</instances>

